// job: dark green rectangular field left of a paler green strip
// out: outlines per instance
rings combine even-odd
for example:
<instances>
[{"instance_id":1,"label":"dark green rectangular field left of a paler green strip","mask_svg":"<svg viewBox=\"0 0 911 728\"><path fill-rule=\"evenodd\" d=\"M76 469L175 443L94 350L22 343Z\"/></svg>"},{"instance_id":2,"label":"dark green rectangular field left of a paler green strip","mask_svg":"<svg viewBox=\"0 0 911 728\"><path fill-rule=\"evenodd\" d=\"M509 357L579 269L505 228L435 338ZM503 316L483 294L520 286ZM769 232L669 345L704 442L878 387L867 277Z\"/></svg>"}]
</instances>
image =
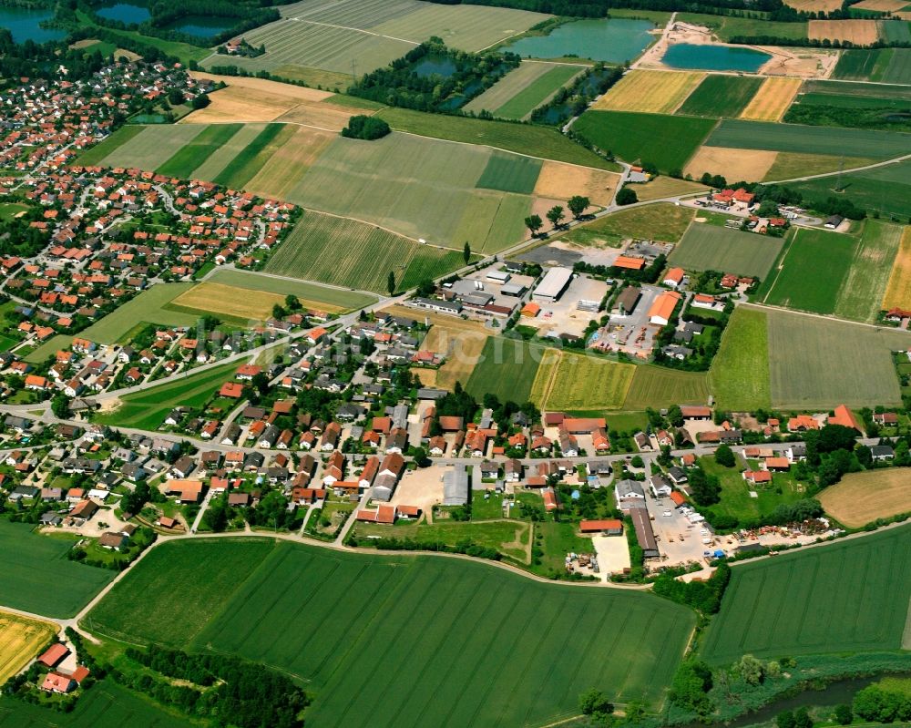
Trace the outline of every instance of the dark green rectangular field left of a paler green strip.
<instances>
[{"instance_id":1,"label":"dark green rectangular field left of a paler green strip","mask_svg":"<svg viewBox=\"0 0 911 728\"><path fill-rule=\"evenodd\" d=\"M772 287L763 301L799 311L834 313L856 248L853 235L805 228L795 231L784 254L783 268L773 275Z\"/></svg>"}]
</instances>

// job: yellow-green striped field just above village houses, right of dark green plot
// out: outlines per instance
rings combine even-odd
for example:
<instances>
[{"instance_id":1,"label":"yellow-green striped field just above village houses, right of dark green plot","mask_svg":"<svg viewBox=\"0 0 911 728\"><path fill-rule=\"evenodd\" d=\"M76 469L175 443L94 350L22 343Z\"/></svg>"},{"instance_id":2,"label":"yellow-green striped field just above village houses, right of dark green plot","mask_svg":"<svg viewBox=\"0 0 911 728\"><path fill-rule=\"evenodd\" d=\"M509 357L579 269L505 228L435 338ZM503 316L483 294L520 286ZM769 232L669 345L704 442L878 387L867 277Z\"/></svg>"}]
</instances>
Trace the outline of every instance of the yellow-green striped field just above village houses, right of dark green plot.
<instances>
[{"instance_id":1,"label":"yellow-green striped field just above village houses, right of dark green plot","mask_svg":"<svg viewBox=\"0 0 911 728\"><path fill-rule=\"evenodd\" d=\"M634 364L557 352L541 363L532 393L542 410L622 409L635 372Z\"/></svg>"}]
</instances>

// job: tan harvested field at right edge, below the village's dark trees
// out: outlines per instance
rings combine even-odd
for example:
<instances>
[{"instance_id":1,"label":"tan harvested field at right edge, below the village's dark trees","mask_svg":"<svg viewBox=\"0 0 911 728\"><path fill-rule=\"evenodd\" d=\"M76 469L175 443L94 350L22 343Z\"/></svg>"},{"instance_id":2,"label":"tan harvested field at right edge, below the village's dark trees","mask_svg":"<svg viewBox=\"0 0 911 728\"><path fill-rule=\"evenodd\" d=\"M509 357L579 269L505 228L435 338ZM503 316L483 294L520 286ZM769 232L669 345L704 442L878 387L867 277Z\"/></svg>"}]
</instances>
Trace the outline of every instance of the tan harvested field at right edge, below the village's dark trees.
<instances>
[{"instance_id":1,"label":"tan harvested field at right edge, below the village's dark trees","mask_svg":"<svg viewBox=\"0 0 911 728\"><path fill-rule=\"evenodd\" d=\"M911 511L911 469L890 467L848 473L819 495L825 512L848 528L860 528L876 518Z\"/></svg>"}]
</instances>

